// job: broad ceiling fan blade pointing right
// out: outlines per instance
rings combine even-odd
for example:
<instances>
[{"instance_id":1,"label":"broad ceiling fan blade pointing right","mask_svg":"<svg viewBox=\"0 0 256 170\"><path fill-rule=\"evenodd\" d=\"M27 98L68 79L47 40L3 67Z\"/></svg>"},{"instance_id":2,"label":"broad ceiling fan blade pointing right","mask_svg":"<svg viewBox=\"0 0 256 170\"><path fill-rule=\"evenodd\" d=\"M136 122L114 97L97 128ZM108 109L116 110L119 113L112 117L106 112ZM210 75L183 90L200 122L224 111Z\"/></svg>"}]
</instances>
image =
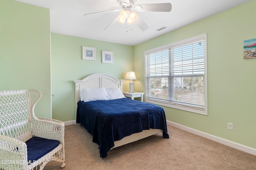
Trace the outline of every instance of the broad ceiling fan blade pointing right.
<instances>
[{"instance_id":1,"label":"broad ceiling fan blade pointing right","mask_svg":"<svg viewBox=\"0 0 256 170\"><path fill-rule=\"evenodd\" d=\"M172 4L140 4L135 7L138 12L170 12L172 10Z\"/></svg>"}]
</instances>

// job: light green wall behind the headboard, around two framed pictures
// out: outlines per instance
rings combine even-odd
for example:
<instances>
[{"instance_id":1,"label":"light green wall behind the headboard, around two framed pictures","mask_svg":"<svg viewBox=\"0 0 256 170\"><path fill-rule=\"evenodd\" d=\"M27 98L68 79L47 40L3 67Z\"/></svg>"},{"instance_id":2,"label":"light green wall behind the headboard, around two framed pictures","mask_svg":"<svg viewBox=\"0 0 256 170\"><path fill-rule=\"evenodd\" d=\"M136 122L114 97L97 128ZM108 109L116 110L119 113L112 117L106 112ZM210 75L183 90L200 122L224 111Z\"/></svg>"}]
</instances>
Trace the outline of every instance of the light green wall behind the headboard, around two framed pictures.
<instances>
[{"instance_id":1,"label":"light green wall behind the headboard, around two framed pictures","mask_svg":"<svg viewBox=\"0 0 256 170\"><path fill-rule=\"evenodd\" d=\"M75 83L94 73L104 72L124 79L133 70L133 47L104 41L51 33L52 117L61 121L75 119ZM96 61L82 60L82 46L96 48ZM114 64L102 64L102 50L114 52ZM128 91L129 80L123 89Z\"/></svg>"}]
</instances>

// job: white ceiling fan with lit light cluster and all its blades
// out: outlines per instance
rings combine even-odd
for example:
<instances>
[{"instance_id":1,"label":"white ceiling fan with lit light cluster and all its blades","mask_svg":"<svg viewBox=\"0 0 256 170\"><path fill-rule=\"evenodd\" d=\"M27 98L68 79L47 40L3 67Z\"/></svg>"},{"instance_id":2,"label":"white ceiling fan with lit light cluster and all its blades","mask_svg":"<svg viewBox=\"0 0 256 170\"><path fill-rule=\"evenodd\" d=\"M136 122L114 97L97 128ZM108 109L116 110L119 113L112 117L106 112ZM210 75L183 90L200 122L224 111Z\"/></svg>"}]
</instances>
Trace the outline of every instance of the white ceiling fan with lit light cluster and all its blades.
<instances>
[{"instance_id":1,"label":"white ceiling fan with lit light cluster and all its blades","mask_svg":"<svg viewBox=\"0 0 256 170\"><path fill-rule=\"evenodd\" d=\"M135 23L136 25L138 25L138 27L142 31L146 31L148 29L148 25L134 11L137 11L137 12L170 12L172 10L172 4L170 4L170 3L137 4L134 7L134 5L136 4L136 1L137 0L117 0L118 4L122 7L122 9L94 12L94 13L90 13L90 14L121 11L120 15L116 19L114 19L110 24L108 24L108 26L111 25L115 21L118 21L123 24L127 20L128 25ZM89 15L89 14L84 14L84 16L86 16L86 15Z\"/></svg>"}]
</instances>

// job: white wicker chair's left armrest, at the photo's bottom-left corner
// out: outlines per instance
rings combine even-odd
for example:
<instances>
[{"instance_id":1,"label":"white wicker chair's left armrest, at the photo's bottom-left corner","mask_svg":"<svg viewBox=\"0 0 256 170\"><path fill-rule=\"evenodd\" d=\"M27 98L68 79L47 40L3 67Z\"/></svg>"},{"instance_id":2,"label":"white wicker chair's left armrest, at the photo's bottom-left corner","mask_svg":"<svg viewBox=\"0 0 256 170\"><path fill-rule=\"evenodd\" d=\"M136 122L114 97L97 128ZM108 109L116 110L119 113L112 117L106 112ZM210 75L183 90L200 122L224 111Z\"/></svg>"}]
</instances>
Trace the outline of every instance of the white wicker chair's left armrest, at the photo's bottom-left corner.
<instances>
[{"instance_id":1,"label":"white wicker chair's left armrest, at the photo's bottom-left corner","mask_svg":"<svg viewBox=\"0 0 256 170\"><path fill-rule=\"evenodd\" d=\"M17 139L0 135L0 167L26 169L28 160L26 143ZM5 169L4 168L4 169ZM1 168L0 168L1 169Z\"/></svg>"}]
</instances>

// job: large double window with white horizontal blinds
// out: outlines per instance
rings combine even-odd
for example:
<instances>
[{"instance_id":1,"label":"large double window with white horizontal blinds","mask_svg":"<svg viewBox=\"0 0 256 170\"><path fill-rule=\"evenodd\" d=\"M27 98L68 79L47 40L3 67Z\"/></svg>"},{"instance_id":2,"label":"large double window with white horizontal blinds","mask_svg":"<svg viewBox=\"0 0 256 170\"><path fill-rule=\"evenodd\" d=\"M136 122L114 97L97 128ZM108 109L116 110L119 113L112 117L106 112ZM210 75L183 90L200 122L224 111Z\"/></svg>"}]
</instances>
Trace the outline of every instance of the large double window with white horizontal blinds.
<instances>
[{"instance_id":1,"label":"large double window with white horizontal blinds","mask_svg":"<svg viewBox=\"0 0 256 170\"><path fill-rule=\"evenodd\" d=\"M145 101L207 115L206 34L145 51Z\"/></svg>"}]
</instances>

